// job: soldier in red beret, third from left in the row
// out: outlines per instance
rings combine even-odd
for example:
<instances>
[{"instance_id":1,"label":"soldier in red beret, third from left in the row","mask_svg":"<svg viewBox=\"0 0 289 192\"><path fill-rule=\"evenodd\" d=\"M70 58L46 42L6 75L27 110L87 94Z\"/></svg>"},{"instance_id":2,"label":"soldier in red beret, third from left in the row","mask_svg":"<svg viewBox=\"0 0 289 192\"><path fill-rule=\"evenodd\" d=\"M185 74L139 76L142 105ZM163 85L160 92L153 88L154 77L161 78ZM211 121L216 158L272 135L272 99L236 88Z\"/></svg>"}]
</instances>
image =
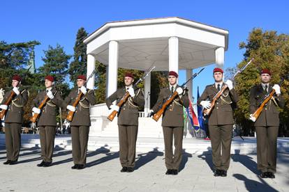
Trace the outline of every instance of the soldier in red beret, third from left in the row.
<instances>
[{"instance_id":1,"label":"soldier in red beret, third from left in the row","mask_svg":"<svg viewBox=\"0 0 289 192\"><path fill-rule=\"evenodd\" d=\"M83 169L87 162L87 143L89 139L89 127L91 125L89 106L96 104L94 90L84 87L87 77L79 75L77 77L77 87L71 90L71 93L66 97L66 109L73 111L74 116L71 121L71 139L73 151L72 169ZM80 102L77 106L73 106L73 102L77 95L83 93Z\"/></svg>"}]
</instances>

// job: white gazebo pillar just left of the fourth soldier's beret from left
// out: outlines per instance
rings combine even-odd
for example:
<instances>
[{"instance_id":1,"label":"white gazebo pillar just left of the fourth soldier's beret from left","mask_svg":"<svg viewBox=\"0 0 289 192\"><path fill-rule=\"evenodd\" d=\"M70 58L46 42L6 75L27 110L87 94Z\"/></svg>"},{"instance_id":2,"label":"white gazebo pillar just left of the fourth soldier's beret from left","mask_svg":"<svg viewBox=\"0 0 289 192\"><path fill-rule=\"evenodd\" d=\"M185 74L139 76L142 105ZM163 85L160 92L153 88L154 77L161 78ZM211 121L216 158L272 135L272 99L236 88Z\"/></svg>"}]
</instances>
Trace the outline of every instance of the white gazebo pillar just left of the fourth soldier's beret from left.
<instances>
[{"instance_id":1,"label":"white gazebo pillar just left of the fourth soldier's beret from left","mask_svg":"<svg viewBox=\"0 0 289 192\"><path fill-rule=\"evenodd\" d=\"M117 41L110 41L108 44L108 92L107 97L117 90L117 68L119 60L119 44Z\"/></svg>"}]
</instances>

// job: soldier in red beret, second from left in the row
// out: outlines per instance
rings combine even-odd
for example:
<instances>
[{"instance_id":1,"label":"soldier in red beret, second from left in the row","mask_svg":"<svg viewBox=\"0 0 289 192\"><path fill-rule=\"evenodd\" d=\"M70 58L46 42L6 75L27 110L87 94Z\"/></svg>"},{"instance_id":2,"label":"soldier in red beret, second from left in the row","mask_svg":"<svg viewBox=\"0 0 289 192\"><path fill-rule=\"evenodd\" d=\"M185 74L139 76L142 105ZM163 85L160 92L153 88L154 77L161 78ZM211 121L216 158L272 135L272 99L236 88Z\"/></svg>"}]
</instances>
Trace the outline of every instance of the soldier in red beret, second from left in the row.
<instances>
[{"instance_id":1,"label":"soldier in red beret, second from left in the row","mask_svg":"<svg viewBox=\"0 0 289 192\"><path fill-rule=\"evenodd\" d=\"M54 148L55 129L57 125L57 109L63 104L61 93L53 87L54 77L45 77L45 90L38 93L33 101L33 113L40 114L37 125L39 127L41 158L43 161L38 167L49 167L52 165L52 154ZM45 97L49 97L42 110L38 108Z\"/></svg>"}]
</instances>

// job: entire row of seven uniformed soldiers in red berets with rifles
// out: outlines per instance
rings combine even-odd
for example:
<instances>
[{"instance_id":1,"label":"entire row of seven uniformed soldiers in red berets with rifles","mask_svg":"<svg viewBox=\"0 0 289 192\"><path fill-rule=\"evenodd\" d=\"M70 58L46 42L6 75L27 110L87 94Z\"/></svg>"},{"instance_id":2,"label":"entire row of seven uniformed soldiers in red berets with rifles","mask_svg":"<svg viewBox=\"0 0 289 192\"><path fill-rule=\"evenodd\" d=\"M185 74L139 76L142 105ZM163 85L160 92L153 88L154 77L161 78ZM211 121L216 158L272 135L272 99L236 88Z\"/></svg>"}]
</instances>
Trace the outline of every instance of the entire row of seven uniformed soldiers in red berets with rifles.
<instances>
[{"instance_id":1,"label":"entire row of seven uniformed soldiers in red berets with rifles","mask_svg":"<svg viewBox=\"0 0 289 192\"><path fill-rule=\"evenodd\" d=\"M252 59L253 60L253 59ZM251 61L252 61L251 60ZM251 63L249 61L249 63ZM249 65L247 63L247 65ZM242 67L236 74L245 70ZM138 112L144 107L144 91L138 83L154 69L152 67L144 77L135 82L133 74L124 75L124 87L118 88L105 99L113 120L117 115L119 130L119 161L121 173L132 173L135 167L135 146L138 138ZM202 69L203 70L203 69ZM201 70L201 71L202 71ZM200 72L201 72L200 71ZM195 78L200 72L191 77ZM94 75L95 71L90 74ZM236 75L235 74L235 75ZM212 144L214 176L226 177L230 167L230 147L232 143L233 112L237 108L238 94L234 88L234 77L223 81L223 70L214 68L214 81L206 86L198 99L208 122ZM263 69L260 83L250 90L250 120L254 122L257 134L258 170L260 177L274 178L276 173L276 146L279 131L279 109L284 99L278 84L271 83L272 72ZM89 77L89 78L90 78ZM165 144L165 175L177 175L182 158L184 135L184 108L190 104L186 83L177 84L179 74L168 72L168 86L161 89L156 104L149 110L149 117L158 121L162 116L163 138ZM41 159L38 167L52 166L54 138L57 127L57 110L67 110L66 120L71 126L72 169L81 170L86 166L87 143L91 120L89 107L96 104L94 90L87 89L87 77L79 75L76 86L63 99L61 90L54 86L54 77L45 77L45 89L41 90L31 104L31 122L39 127ZM5 165L14 165L18 161L21 146L21 128L24 106L29 98L28 90L22 86L22 77L15 74L11 79L11 88L0 105L0 118L5 123L6 154ZM173 150L175 148L175 150Z\"/></svg>"}]
</instances>

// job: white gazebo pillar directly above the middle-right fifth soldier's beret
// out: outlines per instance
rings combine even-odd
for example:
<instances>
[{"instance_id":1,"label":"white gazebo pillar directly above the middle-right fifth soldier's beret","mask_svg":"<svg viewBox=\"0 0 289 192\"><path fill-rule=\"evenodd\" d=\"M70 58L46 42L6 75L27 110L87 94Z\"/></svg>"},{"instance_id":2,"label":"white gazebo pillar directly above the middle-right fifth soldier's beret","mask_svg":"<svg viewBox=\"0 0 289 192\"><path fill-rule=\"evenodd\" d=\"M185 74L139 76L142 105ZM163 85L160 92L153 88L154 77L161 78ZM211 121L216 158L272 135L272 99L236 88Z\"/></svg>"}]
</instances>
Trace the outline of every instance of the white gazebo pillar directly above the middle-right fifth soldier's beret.
<instances>
[{"instance_id":1,"label":"white gazebo pillar directly above the middle-right fifth soldier's beret","mask_svg":"<svg viewBox=\"0 0 289 192\"><path fill-rule=\"evenodd\" d=\"M169 71L179 74L179 38L169 38Z\"/></svg>"}]
</instances>

